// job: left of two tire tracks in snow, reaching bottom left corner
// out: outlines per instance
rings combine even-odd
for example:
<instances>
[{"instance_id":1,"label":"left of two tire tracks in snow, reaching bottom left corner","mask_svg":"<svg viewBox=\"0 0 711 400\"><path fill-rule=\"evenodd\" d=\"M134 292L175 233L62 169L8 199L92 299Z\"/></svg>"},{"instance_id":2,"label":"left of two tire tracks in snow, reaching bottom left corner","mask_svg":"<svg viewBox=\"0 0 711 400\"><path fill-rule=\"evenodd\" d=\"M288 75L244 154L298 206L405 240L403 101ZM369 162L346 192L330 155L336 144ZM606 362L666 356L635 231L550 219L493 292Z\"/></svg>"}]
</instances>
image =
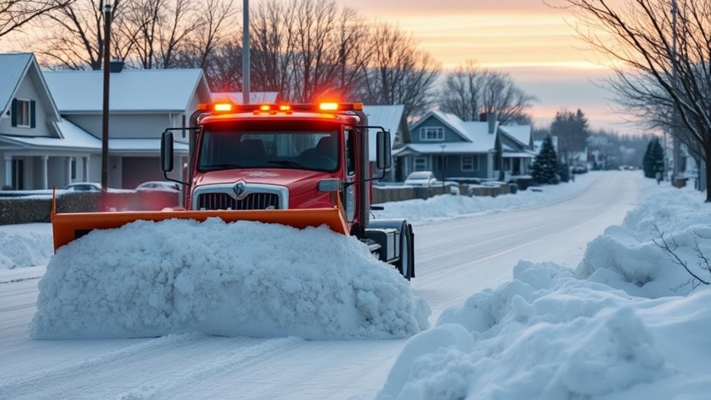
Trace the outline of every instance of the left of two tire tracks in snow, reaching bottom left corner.
<instances>
[{"instance_id":1,"label":"left of two tire tracks in snow, reaching bottom left corner","mask_svg":"<svg viewBox=\"0 0 711 400\"><path fill-rule=\"evenodd\" d=\"M34 374L28 374L26 377L0 383L0 399L12 399L17 396L28 395L40 390L41 387L51 387L55 382L68 382L69 379L65 378L82 374L82 372L88 372L91 369L109 364L110 362L122 360L137 354L140 354L141 357L149 357L151 352L163 351L169 347L196 342L203 337L206 337L206 335L201 333L168 335L90 357L87 360L64 365L63 367L41 369Z\"/></svg>"}]
</instances>

